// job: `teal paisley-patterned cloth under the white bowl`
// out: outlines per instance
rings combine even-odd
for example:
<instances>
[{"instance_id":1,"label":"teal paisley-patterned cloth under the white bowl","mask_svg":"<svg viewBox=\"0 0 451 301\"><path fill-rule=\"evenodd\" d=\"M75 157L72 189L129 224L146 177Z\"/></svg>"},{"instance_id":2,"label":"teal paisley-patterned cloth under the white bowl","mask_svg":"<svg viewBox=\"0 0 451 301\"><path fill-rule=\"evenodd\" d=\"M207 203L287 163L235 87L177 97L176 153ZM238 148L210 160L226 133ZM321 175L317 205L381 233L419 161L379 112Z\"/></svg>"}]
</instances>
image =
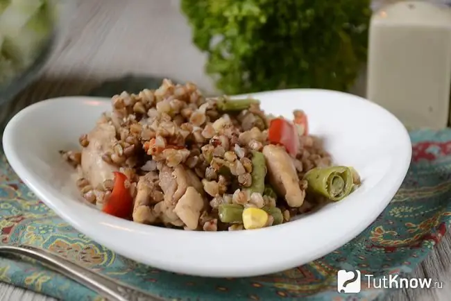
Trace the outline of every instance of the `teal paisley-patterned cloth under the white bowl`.
<instances>
[{"instance_id":1,"label":"teal paisley-patterned cloth under the white bowl","mask_svg":"<svg viewBox=\"0 0 451 301\"><path fill-rule=\"evenodd\" d=\"M410 273L441 241L451 216L451 130L411 132L407 178L374 223L345 246L309 264L273 275L206 279L168 273L114 254L62 221L17 178L0 155L2 243L46 248L92 270L169 300L382 300L383 289L362 285L337 291L337 270L382 277ZM30 261L0 258L0 281L62 300L103 300L99 295Z\"/></svg>"}]
</instances>

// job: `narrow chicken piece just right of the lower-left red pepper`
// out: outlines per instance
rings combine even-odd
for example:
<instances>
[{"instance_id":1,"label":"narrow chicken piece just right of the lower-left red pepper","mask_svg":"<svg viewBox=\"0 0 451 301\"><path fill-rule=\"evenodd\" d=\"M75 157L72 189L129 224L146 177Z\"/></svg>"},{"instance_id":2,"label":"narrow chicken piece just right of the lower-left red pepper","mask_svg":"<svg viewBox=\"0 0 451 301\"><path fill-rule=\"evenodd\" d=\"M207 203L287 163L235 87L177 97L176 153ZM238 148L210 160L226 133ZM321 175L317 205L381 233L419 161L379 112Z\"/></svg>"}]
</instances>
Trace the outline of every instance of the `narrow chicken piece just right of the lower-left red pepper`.
<instances>
[{"instance_id":1,"label":"narrow chicken piece just right of the lower-left red pepper","mask_svg":"<svg viewBox=\"0 0 451 301\"><path fill-rule=\"evenodd\" d=\"M155 184L149 180L152 176L152 174L144 175L139 178L137 183L137 192L133 205L133 221L137 223L155 223L158 219L158 215L150 207L158 203L154 198Z\"/></svg>"}]
</instances>

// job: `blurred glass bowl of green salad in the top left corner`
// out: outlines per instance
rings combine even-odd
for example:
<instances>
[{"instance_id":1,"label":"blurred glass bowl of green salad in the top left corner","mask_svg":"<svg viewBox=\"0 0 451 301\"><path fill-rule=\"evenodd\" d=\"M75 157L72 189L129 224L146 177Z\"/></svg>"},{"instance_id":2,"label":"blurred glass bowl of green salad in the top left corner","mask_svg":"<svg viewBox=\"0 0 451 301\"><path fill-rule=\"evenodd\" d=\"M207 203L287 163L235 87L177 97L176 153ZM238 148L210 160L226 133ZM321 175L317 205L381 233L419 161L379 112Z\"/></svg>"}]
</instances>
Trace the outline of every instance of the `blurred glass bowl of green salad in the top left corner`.
<instances>
[{"instance_id":1,"label":"blurred glass bowl of green salad in the top left corner","mask_svg":"<svg viewBox=\"0 0 451 301\"><path fill-rule=\"evenodd\" d=\"M31 83L49 58L62 2L0 0L0 104Z\"/></svg>"}]
</instances>

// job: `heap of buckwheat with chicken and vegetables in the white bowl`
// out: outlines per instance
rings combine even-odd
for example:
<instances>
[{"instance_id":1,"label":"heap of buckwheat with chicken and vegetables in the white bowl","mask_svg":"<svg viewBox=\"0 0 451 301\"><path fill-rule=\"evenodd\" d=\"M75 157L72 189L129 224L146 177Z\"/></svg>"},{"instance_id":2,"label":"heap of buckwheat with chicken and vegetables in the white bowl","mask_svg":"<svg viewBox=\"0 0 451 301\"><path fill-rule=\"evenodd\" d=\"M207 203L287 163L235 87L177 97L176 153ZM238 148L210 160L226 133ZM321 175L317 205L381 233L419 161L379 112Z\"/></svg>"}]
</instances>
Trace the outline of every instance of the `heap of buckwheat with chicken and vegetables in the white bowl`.
<instances>
[{"instance_id":1,"label":"heap of buckwheat with chicken and vegetables in the white bowl","mask_svg":"<svg viewBox=\"0 0 451 301\"><path fill-rule=\"evenodd\" d=\"M360 184L352 167L331 166L303 111L289 121L267 116L252 98L163 87L169 95L160 88L113 97L112 114L80 137L81 153L66 153L83 196L106 214L185 230L251 230L342 200Z\"/></svg>"}]
</instances>

